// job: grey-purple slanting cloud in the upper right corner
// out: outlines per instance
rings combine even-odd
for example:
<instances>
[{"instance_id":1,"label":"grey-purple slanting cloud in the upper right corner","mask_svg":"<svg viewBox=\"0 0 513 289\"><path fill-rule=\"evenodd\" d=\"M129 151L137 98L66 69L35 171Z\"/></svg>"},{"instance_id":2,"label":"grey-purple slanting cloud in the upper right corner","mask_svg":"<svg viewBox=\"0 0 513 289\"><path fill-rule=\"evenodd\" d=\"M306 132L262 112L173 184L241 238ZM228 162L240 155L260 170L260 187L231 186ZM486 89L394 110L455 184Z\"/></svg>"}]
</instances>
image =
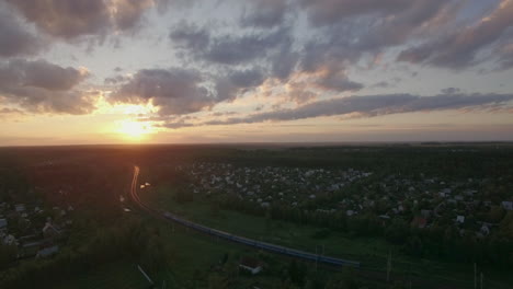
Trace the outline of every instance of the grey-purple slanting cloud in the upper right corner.
<instances>
[{"instance_id":1,"label":"grey-purple slanting cloud in the upper right corner","mask_svg":"<svg viewBox=\"0 0 513 289\"><path fill-rule=\"evenodd\" d=\"M513 27L513 1L502 0L477 24L454 30L420 46L401 51L398 60L461 69L476 65L477 54L490 47ZM511 36L511 35L510 35Z\"/></svg>"}]
</instances>

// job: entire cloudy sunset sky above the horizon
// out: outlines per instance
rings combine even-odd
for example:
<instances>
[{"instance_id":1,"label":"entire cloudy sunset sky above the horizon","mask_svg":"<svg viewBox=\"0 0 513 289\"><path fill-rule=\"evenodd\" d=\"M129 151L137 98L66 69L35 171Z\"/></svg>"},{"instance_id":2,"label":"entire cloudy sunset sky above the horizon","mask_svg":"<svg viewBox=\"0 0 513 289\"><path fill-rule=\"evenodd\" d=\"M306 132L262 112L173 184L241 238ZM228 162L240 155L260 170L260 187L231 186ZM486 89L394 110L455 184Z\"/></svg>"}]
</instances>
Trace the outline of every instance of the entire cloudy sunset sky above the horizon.
<instances>
[{"instance_id":1,"label":"entire cloudy sunset sky above the horizon","mask_svg":"<svg viewBox=\"0 0 513 289\"><path fill-rule=\"evenodd\" d=\"M512 140L513 0L0 0L0 146Z\"/></svg>"}]
</instances>

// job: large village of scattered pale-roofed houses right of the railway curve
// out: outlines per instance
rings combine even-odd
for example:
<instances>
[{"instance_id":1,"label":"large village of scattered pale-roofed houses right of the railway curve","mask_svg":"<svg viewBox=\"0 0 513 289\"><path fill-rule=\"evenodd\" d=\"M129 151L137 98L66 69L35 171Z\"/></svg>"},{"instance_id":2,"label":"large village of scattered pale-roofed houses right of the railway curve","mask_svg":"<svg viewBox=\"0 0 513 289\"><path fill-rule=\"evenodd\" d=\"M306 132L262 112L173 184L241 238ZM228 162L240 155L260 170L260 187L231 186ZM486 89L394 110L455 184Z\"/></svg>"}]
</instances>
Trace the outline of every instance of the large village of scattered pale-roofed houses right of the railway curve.
<instances>
[{"instance_id":1,"label":"large village of scattered pale-roofed houses right of the railway curve","mask_svg":"<svg viewBox=\"0 0 513 289\"><path fill-rule=\"evenodd\" d=\"M383 224L402 219L411 228L453 226L459 235L486 238L513 201L485 192L495 180L449 181L441 176L415 177L354 169L249 167L229 163L178 166L193 180L193 194L235 195L262 210L277 206L308 213L375 215Z\"/></svg>"}]
</instances>

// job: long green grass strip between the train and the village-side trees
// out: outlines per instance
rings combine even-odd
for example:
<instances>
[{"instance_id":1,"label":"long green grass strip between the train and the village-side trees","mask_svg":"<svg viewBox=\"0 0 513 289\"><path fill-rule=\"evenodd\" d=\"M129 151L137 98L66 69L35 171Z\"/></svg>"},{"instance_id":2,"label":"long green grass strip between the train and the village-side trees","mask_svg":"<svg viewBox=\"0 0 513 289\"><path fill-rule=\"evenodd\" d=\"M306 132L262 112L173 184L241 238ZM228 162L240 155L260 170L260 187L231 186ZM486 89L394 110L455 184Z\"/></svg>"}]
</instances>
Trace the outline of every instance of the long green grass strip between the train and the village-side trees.
<instances>
[{"instance_id":1,"label":"long green grass strip between the train and the village-side trees","mask_svg":"<svg viewBox=\"0 0 513 289\"><path fill-rule=\"evenodd\" d=\"M140 193L144 198L145 192ZM266 221L265 218L249 216L236 211L214 210L207 199L195 196L194 201L178 204L169 187L161 187L146 199L152 206L173 211L189 220L206 224L210 228L225 230L230 233L285 245L294 248L317 252L324 255L338 256L360 261L362 267L369 271L385 271L387 256L392 254L392 275L400 278L437 280L452 284L457 288L474 287L474 264L454 264L429 259L411 258L402 254L398 246L391 245L383 239L352 238L338 232L331 232L322 240L312 235L319 228L298 226L285 221ZM200 242L200 241L197 241ZM203 242L203 241L201 241ZM210 242L212 239L205 242ZM487 271L487 288L511 288L513 278L505 274Z\"/></svg>"}]
</instances>

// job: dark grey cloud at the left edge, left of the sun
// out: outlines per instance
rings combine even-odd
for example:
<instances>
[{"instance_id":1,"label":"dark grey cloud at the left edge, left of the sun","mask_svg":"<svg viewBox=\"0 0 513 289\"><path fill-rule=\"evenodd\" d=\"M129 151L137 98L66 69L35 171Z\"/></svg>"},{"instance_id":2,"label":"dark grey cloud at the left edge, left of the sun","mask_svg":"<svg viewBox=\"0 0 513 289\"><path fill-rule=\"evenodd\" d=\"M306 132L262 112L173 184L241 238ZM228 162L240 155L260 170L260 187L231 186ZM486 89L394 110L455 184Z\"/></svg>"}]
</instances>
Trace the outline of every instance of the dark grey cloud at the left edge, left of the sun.
<instances>
[{"instance_id":1,"label":"dark grey cloud at the left edge, left of the sun","mask_svg":"<svg viewBox=\"0 0 513 289\"><path fill-rule=\"evenodd\" d=\"M32 113L87 114L94 109L94 95L75 90L87 77L86 70L44 60L1 62L0 99Z\"/></svg>"}]
</instances>

